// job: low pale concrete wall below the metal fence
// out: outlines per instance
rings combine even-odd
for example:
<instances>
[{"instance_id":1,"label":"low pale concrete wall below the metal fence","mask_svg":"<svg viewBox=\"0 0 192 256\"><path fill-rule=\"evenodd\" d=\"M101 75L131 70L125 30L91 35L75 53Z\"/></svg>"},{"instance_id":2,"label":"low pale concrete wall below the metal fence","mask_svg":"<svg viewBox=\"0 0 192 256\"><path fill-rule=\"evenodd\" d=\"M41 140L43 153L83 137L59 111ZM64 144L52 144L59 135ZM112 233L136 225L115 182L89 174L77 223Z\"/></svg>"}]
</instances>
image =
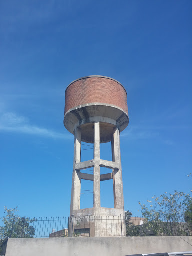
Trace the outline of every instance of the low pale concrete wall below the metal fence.
<instances>
[{"instance_id":1,"label":"low pale concrete wall below the metal fence","mask_svg":"<svg viewBox=\"0 0 192 256\"><path fill-rule=\"evenodd\" d=\"M8 239L6 256L125 256L192 251L191 236L17 238Z\"/></svg>"}]
</instances>

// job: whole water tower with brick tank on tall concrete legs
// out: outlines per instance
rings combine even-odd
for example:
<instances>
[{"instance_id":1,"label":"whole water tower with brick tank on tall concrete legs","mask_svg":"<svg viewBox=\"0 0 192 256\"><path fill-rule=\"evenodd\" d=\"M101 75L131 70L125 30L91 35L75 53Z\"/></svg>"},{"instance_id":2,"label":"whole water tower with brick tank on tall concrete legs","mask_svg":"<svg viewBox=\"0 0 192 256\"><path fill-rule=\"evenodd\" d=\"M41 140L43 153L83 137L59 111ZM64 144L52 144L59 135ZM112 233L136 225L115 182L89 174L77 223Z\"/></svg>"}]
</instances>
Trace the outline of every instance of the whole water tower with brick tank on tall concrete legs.
<instances>
[{"instance_id":1,"label":"whole water tower with brick tank on tall concrete legs","mask_svg":"<svg viewBox=\"0 0 192 256\"><path fill-rule=\"evenodd\" d=\"M104 232L105 236L125 236L119 136L129 122L126 90L121 83L110 77L91 75L79 78L66 88L64 113L64 126L74 134L69 233L76 230L75 223L71 224L72 219L78 219L78 230L81 233L84 228L84 233L91 236L102 236ZM81 142L94 146L93 159L81 161ZM112 161L100 159L100 143L106 142L111 142ZM83 169L92 167L93 174L83 173ZM100 174L100 167L110 169L110 172ZM80 208L82 179L93 182L92 208ZM100 182L108 179L113 180L113 194L110 196L114 197L114 208L104 208L100 204ZM93 223L90 223L90 217ZM106 222L103 227L101 222L103 219L106 221L107 217L111 223L109 221L106 227ZM118 232L117 222L115 224L112 221L115 218L121 225ZM79 224L82 223L80 220L86 220L87 225L83 227Z\"/></svg>"}]
</instances>

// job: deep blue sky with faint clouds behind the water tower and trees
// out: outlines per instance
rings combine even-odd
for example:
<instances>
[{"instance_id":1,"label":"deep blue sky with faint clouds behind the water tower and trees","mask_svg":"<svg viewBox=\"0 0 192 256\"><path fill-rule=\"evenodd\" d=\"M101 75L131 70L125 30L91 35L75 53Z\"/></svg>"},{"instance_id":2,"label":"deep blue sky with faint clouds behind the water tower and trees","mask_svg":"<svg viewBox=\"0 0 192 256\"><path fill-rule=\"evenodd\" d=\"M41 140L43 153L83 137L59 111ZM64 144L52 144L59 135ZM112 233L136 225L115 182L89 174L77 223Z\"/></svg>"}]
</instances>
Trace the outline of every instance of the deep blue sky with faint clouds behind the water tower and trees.
<instances>
[{"instance_id":1,"label":"deep blue sky with faint clouds behind the water tower and trees","mask_svg":"<svg viewBox=\"0 0 192 256\"><path fill-rule=\"evenodd\" d=\"M139 215L138 201L190 191L191 5L0 1L0 216L5 205L22 216L69 215L74 139L63 125L64 92L87 75L112 77L127 91L125 210ZM102 205L112 207L112 184L103 184ZM92 194L82 200L90 206Z\"/></svg>"}]
</instances>

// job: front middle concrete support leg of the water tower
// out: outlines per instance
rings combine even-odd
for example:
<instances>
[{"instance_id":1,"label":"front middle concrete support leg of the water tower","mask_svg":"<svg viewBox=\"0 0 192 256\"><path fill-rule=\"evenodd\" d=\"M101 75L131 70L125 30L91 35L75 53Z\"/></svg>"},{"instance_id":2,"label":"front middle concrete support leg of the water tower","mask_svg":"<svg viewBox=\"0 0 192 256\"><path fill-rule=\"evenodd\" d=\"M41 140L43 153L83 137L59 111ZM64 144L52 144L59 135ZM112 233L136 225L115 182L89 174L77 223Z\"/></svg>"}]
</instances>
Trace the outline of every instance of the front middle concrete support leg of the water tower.
<instances>
[{"instance_id":1,"label":"front middle concrete support leg of the water tower","mask_svg":"<svg viewBox=\"0 0 192 256\"><path fill-rule=\"evenodd\" d=\"M94 208L95 215L100 209L100 123L94 124Z\"/></svg>"}]
</instances>

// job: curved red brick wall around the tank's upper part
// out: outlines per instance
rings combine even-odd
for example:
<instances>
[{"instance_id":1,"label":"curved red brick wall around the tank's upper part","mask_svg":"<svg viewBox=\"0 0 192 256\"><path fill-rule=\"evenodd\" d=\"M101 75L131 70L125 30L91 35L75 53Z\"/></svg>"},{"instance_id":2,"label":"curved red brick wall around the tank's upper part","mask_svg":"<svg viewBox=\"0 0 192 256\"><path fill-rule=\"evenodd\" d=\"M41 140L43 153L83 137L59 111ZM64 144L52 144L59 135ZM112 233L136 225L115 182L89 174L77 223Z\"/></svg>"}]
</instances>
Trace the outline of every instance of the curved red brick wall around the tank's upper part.
<instances>
[{"instance_id":1,"label":"curved red brick wall around the tank's upper part","mask_svg":"<svg viewBox=\"0 0 192 256\"><path fill-rule=\"evenodd\" d=\"M104 77L87 77L70 84L65 92L65 111L86 103L107 103L128 113L125 89L116 81Z\"/></svg>"}]
</instances>

